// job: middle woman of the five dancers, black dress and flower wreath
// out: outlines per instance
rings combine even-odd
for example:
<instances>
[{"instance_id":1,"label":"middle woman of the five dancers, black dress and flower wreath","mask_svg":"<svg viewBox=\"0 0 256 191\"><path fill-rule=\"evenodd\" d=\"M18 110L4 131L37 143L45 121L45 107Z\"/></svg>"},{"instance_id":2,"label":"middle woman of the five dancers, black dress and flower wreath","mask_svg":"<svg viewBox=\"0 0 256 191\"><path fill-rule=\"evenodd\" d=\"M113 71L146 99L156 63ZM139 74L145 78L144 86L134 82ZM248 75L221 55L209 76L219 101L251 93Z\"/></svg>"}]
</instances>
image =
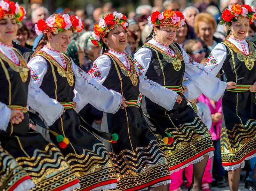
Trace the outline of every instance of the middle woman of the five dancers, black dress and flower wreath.
<instances>
[{"instance_id":1,"label":"middle woman of the five dancers, black dress and flower wreath","mask_svg":"<svg viewBox=\"0 0 256 191\"><path fill-rule=\"evenodd\" d=\"M92 33L92 43L102 46L103 54L93 62L88 74L108 89L120 92L127 105L115 114L103 113L101 131L117 132L119 135L116 144L104 142L115 163L116 190L167 191L170 172L166 158L137 104L143 84L147 89L150 82L140 75L132 58L124 53L127 26L126 17L114 11L100 18ZM148 91L150 93L145 94L159 103L155 94L163 93L161 87L155 83L151 89L154 93ZM172 94L163 97L174 99ZM169 105L163 104L163 107L168 108ZM164 132L161 135L168 144L168 135Z\"/></svg>"}]
</instances>

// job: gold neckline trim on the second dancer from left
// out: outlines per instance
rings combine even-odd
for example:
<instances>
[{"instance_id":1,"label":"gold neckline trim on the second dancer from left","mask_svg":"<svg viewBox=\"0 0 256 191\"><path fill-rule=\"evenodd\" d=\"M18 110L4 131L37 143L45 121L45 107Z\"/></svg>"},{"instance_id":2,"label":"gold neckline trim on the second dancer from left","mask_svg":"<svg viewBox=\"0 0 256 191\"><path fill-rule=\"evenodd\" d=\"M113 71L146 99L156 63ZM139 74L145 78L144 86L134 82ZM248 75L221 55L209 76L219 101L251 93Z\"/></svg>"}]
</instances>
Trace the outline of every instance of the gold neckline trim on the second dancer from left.
<instances>
[{"instance_id":1,"label":"gold neckline trim on the second dancer from left","mask_svg":"<svg viewBox=\"0 0 256 191\"><path fill-rule=\"evenodd\" d=\"M51 62L54 66L56 66L57 71L60 74L60 76L61 77L66 77L67 81L68 81L68 84L70 86L73 86L73 84L74 84L74 72L73 72L72 67L71 67L71 61L70 61L70 59L68 58L67 55L61 53L61 55L64 57L64 60L66 62L66 67L67 67L66 70L62 66L60 66L60 64L54 58L52 58L51 55L48 55L47 53L45 53L43 51L39 51L36 55L40 55L40 56L44 57L46 60Z\"/></svg>"}]
</instances>

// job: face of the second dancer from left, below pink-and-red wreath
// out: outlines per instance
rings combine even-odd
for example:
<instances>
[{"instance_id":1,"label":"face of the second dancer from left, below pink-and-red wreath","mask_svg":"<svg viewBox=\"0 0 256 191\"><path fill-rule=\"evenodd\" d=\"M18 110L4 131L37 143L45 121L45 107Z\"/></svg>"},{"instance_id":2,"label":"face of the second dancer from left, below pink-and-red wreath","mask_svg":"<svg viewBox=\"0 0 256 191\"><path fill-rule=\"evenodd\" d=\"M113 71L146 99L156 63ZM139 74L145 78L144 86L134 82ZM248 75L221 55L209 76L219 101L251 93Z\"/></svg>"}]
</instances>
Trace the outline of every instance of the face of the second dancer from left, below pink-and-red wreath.
<instances>
[{"instance_id":1,"label":"face of the second dancer from left, below pink-and-red wreath","mask_svg":"<svg viewBox=\"0 0 256 191\"><path fill-rule=\"evenodd\" d=\"M59 52L66 52L68 44L70 43L70 38L72 31L67 30L65 32L59 32L56 35L52 33L47 33L48 43L50 47Z\"/></svg>"}]
</instances>

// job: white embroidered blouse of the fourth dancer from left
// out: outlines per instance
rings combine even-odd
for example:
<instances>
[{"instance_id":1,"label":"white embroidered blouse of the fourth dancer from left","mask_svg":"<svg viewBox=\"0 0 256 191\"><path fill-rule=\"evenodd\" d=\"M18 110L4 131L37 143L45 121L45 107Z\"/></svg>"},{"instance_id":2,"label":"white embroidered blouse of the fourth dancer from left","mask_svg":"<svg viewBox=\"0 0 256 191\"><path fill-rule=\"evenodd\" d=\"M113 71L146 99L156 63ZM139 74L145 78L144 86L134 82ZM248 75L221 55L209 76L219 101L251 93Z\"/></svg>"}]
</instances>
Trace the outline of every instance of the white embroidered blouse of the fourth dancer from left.
<instances>
[{"instance_id":1,"label":"white embroidered blouse of the fourth dancer from left","mask_svg":"<svg viewBox=\"0 0 256 191\"><path fill-rule=\"evenodd\" d=\"M174 51L169 48L169 46L161 44L155 38L149 40L148 43L160 48L170 55L175 54ZM181 46L180 48L182 51L183 60L185 62L184 76L189 78L187 81L183 82L183 84L188 88L188 91L185 92L186 98L193 99L193 91L195 87L197 87L201 92L204 93L204 95L210 99L218 100L224 93L227 87L227 83L220 81L217 77L212 75L208 69L204 67L204 64L195 62ZM140 68L140 72L143 75L146 75L149 64L151 62L151 56L151 50L149 48L140 48L134 55L134 61L138 68ZM198 90L197 88L196 90Z\"/></svg>"}]
</instances>

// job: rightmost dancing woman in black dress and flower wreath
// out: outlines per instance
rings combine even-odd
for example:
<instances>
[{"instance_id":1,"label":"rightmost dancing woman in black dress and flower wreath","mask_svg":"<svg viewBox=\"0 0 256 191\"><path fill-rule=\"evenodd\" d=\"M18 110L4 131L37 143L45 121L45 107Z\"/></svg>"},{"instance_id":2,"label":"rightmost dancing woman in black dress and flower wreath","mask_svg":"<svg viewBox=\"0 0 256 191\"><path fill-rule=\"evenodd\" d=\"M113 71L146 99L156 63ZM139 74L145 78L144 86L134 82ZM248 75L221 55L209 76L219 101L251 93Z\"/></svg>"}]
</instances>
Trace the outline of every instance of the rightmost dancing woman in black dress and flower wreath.
<instances>
[{"instance_id":1,"label":"rightmost dancing woman in black dress and flower wreath","mask_svg":"<svg viewBox=\"0 0 256 191\"><path fill-rule=\"evenodd\" d=\"M220 24L228 27L227 37L213 48L205 63L212 74L223 70L227 80L237 84L222 97L220 139L222 166L229 171L232 191L238 190L245 160L256 156L256 45L245 40L255 16L255 9L246 4L234 4L225 9ZM245 187L256 189L255 169L246 179Z\"/></svg>"}]
</instances>

